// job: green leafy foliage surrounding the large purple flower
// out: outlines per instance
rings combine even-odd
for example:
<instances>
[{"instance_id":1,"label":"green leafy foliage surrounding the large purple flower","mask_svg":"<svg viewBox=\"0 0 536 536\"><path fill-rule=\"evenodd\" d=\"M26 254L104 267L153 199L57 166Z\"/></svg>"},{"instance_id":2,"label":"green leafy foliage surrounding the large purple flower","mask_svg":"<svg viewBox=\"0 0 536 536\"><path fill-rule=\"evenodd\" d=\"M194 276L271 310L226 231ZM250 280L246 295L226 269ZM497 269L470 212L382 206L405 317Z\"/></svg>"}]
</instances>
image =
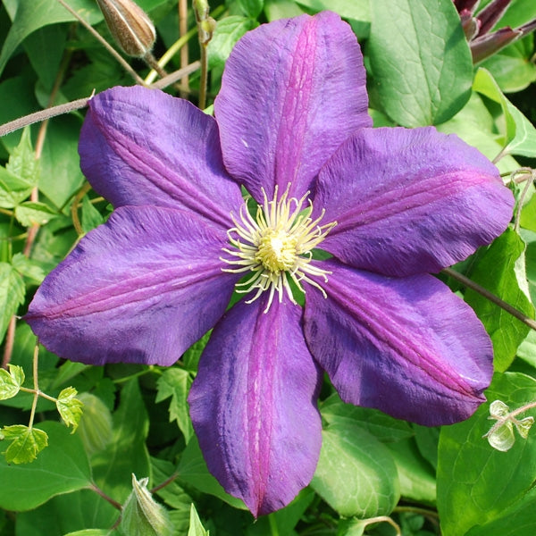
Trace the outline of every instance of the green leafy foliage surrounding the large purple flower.
<instances>
[{"instance_id":1,"label":"green leafy foliage surrounding the large purple flower","mask_svg":"<svg viewBox=\"0 0 536 536\"><path fill-rule=\"evenodd\" d=\"M112 41L93 0L67 1ZM138 4L155 21L159 57L179 38L177 0ZM515 219L490 247L455 269L533 317L536 197L528 171L511 175L536 167L532 35L474 66L451 0L214 0L210 6L217 27L208 46L209 100L217 95L232 46L247 30L331 9L351 24L362 45L375 126L433 124L490 159L500 155L505 180L514 179ZM498 27L533 18L533 0L513 0ZM195 29L191 6L188 28ZM197 32L190 35L194 61ZM147 76L144 63L128 61ZM166 68L179 67L175 54ZM0 4L0 124L132 83L56 0ZM198 84L197 72L190 77L194 102ZM83 114L56 117L46 131L35 124L0 138L0 341L13 365L0 371L0 536L389 536L397 533L389 519L407 536L536 533L536 432L526 440L517 436L507 452L482 438L491 426L491 401L512 409L536 402L536 335L447 275L440 277L465 297L493 341L496 374L489 402L464 423L427 429L343 404L326 384L323 446L313 482L289 507L256 522L207 472L189 421L188 389L205 339L168 369L91 367L63 362L41 348L37 378L35 337L13 315L25 313L46 273L111 211L80 172ZM37 382L49 397L39 397L32 410ZM74 389L84 404L82 415ZM27 426L29 415L35 421ZM534 409L523 417L530 415ZM146 478L149 498L140 483ZM132 516L144 515L132 506L143 497L165 508L167 528L148 518L132 523ZM118 507L127 503L128 527L118 522Z\"/></svg>"}]
</instances>

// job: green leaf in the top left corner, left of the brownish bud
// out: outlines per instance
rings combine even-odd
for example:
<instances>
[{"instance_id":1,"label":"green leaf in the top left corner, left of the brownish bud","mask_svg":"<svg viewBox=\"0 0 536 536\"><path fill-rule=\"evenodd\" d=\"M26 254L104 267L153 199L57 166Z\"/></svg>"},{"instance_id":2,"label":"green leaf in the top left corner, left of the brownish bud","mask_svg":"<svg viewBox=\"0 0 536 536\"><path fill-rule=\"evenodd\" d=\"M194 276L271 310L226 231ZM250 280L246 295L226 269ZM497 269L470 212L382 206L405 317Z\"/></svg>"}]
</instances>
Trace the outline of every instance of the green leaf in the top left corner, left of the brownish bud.
<instances>
[{"instance_id":1,"label":"green leaf in the top left corner, left of the brownish bud","mask_svg":"<svg viewBox=\"0 0 536 536\"><path fill-rule=\"evenodd\" d=\"M90 0L70 0L71 8L80 14L90 24L102 20L102 14L96 4ZM20 2L13 19L12 27L5 38L2 52L0 52L0 74L4 71L17 46L36 29L43 28L57 22L76 21L62 4L48 0L33 0L33 2Z\"/></svg>"}]
</instances>

